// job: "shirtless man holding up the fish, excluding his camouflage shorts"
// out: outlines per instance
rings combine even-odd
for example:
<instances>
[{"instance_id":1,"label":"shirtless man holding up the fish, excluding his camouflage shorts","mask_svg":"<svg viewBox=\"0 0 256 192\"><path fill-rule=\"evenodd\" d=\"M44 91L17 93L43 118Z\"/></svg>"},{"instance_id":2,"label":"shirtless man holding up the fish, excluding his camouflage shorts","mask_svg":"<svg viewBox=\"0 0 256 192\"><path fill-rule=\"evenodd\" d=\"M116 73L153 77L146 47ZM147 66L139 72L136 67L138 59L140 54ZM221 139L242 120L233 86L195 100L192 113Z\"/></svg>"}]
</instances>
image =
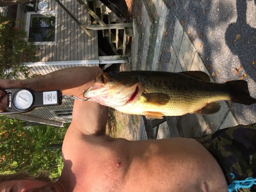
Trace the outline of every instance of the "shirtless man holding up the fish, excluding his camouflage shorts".
<instances>
[{"instance_id":1,"label":"shirtless man holding up the fish, excluding his camouflage shorts","mask_svg":"<svg viewBox=\"0 0 256 192\"><path fill-rule=\"evenodd\" d=\"M2 80L0 89L61 89L63 94L81 97L99 72L98 67L66 68L23 81ZM4 110L6 95L0 93ZM63 141L64 167L59 180L0 179L0 191L227 191L223 169L197 140L110 138L105 135L107 114L107 107L76 100ZM51 190L39 189L45 186Z\"/></svg>"}]
</instances>

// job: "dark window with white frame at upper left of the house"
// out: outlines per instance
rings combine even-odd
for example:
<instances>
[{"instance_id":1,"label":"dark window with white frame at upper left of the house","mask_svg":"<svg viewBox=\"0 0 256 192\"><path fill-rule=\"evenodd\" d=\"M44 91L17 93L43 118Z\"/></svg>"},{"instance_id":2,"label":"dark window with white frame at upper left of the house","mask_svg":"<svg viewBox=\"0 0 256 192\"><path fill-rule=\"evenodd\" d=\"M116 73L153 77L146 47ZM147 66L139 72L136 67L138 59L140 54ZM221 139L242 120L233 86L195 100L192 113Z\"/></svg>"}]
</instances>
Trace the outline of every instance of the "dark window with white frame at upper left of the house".
<instances>
[{"instance_id":1,"label":"dark window with white frame at upper left of the house","mask_svg":"<svg viewBox=\"0 0 256 192\"><path fill-rule=\"evenodd\" d=\"M35 44L55 44L57 37L57 12L28 12L27 26L28 41Z\"/></svg>"}]
</instances>

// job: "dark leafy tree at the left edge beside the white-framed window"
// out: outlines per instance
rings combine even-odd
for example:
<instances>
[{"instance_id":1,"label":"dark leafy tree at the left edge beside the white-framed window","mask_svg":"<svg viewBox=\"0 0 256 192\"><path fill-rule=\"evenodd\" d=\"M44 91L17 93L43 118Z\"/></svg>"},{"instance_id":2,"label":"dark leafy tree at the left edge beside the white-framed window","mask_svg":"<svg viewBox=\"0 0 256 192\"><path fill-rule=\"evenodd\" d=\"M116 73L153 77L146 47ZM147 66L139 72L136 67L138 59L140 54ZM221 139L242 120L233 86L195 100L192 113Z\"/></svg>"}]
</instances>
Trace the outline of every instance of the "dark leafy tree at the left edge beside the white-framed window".
<instances>
[{"instance_id":1,"label":"dark leafy tree at the left edge beside the white-framed window","mask_svg":"<svg viewBox=\"0 0 256 192\"><path fill-rule=\"evenodd\" d=\"M26 31L15 28L14 24L14 20L0 14L0 78L15 78L18 72L28 77L23 62L37 60L35 45L27 42Z\"/></svg>"}]
</instances>

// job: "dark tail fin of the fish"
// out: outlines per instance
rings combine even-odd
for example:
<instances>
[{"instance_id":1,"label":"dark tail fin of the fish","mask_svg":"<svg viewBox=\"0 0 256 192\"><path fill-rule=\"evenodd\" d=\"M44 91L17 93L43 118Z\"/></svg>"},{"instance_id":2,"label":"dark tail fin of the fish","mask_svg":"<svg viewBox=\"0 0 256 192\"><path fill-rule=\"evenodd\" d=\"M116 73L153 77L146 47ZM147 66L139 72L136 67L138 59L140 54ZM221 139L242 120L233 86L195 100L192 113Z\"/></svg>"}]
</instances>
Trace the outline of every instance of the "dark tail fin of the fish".
<instances>
[{"instance_id":1,"label":"dark tail fin of the fish","mask_svg":"<svg viewBox=\"0 0 256 192\"><path fill-rule=\"evenodd\" d=\"M244 80L229 81L226 84L229 90L231 101L242 103L244 105L251 105L256 103L256 99L250 96L248 84Z\"/></svg>"}]
</instances>

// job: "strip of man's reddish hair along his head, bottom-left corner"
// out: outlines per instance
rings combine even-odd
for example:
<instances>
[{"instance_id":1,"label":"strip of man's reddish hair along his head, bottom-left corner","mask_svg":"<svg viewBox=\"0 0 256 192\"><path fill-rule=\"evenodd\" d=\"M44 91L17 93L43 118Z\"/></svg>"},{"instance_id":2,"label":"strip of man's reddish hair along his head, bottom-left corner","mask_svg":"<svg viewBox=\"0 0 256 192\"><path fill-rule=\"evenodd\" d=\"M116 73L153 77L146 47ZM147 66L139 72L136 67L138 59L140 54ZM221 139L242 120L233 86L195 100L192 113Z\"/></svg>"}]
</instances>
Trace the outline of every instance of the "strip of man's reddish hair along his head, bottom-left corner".
<instances>
[{"instance_id":1,"label":"strip of man's reddish hair along his head, bottom-left corner","mask_svg":"<svg viewBox=\"0 0 256 192\"><path fill-rule=\"evenodd\" d=\"M46 171L39 171L36 176L27 171L19 171L13 174L0 174L0 182L9 180L20 180L20 179L37 179L39 181L51 181L49 173Z\"/></svg>"}]
</instances>

